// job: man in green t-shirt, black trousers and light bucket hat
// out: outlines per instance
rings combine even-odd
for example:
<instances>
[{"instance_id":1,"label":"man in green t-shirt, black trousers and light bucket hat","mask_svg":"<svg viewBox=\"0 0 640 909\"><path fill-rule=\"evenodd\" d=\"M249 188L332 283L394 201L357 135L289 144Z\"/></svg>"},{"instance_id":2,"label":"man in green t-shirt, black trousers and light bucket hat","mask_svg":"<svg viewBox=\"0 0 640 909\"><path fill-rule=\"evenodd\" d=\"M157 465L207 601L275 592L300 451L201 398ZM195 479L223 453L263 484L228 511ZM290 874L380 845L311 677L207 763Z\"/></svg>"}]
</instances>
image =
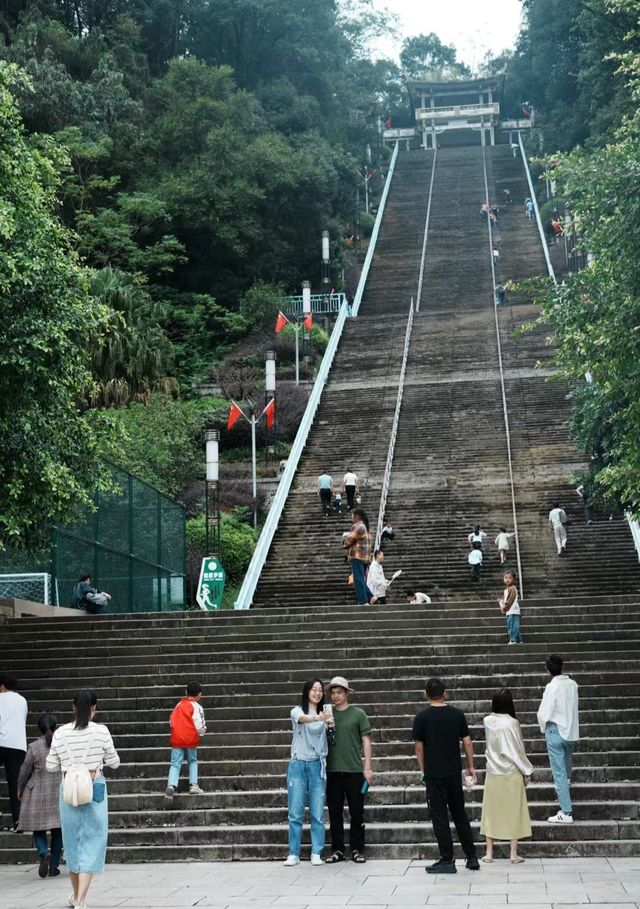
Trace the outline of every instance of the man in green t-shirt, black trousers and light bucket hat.
<instances>
[{"instance_id":1,"label":"man in green t-shirt, black trousers and light bucket hat","mask_svg":"<svg viewBox=\"0 0 640 909\"><path fill-rule=\"evenodd\" d=\"M327 757L327 807L331 827L332 855L327 864L343 862L344 822L342 812L346 798L349 806L349 848L354 862L362 864L364 857L364 795L362 786L373 782L371 769L371 725L360 707L349 703L353 694L349 683L340 675L329 682L335 720L335 744ZM362 753L364 752L364 772Z\"/></svg>"}]
</instances>

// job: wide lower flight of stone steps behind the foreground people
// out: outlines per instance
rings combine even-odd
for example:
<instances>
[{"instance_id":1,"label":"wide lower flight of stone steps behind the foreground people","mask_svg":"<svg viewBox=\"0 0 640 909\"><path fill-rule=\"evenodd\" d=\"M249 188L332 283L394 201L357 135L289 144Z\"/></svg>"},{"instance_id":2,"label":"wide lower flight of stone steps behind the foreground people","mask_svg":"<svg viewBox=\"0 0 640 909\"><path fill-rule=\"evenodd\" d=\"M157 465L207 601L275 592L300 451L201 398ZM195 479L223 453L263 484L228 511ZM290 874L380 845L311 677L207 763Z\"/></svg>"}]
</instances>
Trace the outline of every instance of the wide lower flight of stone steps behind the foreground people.
<instances>
[{"instance_id":1,"label":"wide lower flight of stone steps behind the foreground people","mask_svg":"<svg viewBox=\"0 0 640 909\"><path fill-rule=\"evenodd\" d=\"M372 857L436 855L416 772L411 725L424 678L441 674L468 715L483 780L482 717L509 685L535 766L533 838L525 855L640 852L640 603L625 598L529 600L525 644L507 647L492 603L431 607L305 607L245 614L14 620L2 626L2 665L18 675L35 720L70 719L80 687L99 697L98 720L122 758L109 774L111 861L280 859L286 854L288 713L311 673L344 673L371 717L375 785L367 804ZM546 823L555 809L544 741L535 725L550 651L580 685L575 823ZM191 678L204 685L207 733L199 749L205 795L163 798L167 718ZM0 808L8 808L0 787ZM468 797L478 830L482 790ZM306 839L306 834L305 834ZM0 834L3 861L33 858L27 836Z\"/></svg>"}]
</instances>

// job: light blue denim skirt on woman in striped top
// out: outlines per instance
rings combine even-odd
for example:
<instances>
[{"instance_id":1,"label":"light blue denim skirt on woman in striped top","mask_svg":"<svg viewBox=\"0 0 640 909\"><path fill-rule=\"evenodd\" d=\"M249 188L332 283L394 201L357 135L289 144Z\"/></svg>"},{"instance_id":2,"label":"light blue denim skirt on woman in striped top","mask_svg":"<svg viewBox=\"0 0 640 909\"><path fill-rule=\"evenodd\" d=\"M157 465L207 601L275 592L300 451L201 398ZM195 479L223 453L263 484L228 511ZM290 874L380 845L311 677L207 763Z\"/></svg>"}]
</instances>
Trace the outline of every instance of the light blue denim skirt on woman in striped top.
<instances>
[{"instance_id":1,"label":"light blue denim skirt on woman in striped top","mask_svg":"<svg viewBox=\"0 0 640 909\"><path fill-rule=\"evenodd\" d=\"M104 870L109 822L105 786L102 802L67 805L60 787L60 826L64 858L69 871L99 874Z\"/></svg>"}]
</instances>

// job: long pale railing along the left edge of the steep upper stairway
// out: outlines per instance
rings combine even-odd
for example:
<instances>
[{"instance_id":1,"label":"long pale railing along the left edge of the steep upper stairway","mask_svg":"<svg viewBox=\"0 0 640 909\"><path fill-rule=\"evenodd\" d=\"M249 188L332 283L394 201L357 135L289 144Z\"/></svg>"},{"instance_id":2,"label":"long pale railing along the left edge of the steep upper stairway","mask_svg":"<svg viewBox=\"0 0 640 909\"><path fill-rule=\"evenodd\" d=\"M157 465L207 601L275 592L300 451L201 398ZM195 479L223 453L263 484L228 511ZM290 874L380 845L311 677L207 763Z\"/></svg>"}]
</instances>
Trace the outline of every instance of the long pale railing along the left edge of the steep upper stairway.
<instances>
[{"instance_id":1,"label":"long pale railing along the left edge of the steep upper stairway","mask_svg":"<svg viewBox=\"0 0 640 909\"><path fill-rule=\"evenodd\" d=\"M249 563L247 573L244 576L242 586L240 587L240 591L238 593L238 599L234 604L235 609L249 609L251 607L251 604L253 602L253 595L256 591L256 587L258 586L258 581L260 580L262 569L264 568L265 562L267 561L271 543L273 542L275 532L278 529L280 517L284 510L287 496L289 495L289 490L293 484L293 479L296 470L298 469L298 464L300 463L300 457L302 455L304 446L307 443L307 438L313 425L313 420L318 409L318 404L320 403L320 396L324 391L324 387L329 377L329 371L331 370L336 351L338 350L338 344L340 343L340 339L342 337L345 322L350 315L357 316L358 314L360 303L362 301L362 295L364 292L364 286L369 274L371 260L373 259L376 243L378 241L382 216L384 213L387 196L389 195L389 188L391 186L391 180L393 178L393 172L395 170L397 158L398 145L396 144L396 147L393 150L393 155L391 156L387 179L384 185L382 197L380 199L380 205L378 207L376 223L371 234L369 250L367 252L367 257L365 259L362 273L360 275L360 281L358 282L356 295L351 307L349 308L348 304L345 301L340 308L340 312L338 313L338 318L336 319L336 323L333 326L329 344L327 345L324 357L322 358L320 369L318 370L318 375L311 391L311 396L307 402L305 412L302 415L300 426L298 427L298 432L296 433L293 446L289 453L289 457L287 458L287 466L285 467L284 473L282 474L280 482L278 483L278 488L276 490L275 496L273 497L273 502L271 503L269 514L267 515L267 519L264 522L262 531L260 532L256 548L253 551L251 562Z\"/></svg>"}]
</instances>

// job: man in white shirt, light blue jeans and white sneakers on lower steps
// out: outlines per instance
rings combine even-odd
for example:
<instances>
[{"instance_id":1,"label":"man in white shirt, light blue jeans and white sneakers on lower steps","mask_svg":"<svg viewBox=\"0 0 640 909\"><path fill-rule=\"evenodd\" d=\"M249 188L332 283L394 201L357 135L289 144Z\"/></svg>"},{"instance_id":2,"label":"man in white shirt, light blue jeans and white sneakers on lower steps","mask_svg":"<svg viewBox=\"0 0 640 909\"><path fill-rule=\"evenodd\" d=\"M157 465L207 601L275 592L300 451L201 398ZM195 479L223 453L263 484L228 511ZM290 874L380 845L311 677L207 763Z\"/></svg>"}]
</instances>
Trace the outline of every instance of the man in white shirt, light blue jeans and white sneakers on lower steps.
<instances>
[{"instance_id":1,"label":"man in white shirt, light blue jeans and white sneakers on lower steps","mask_svg":"<svg viewBox=\"0 0 640 909\"><path fill-rule=\"evenodd\" d=\"M549 818L550 824L573 823L569 780L573 748L580 737L578 723L578 686L562 674L562 657L552 653L545 663L551 681L538 708L538 723L547 742L547 753L556 787L560 811Z\"/></svg>"}]
</instances>

